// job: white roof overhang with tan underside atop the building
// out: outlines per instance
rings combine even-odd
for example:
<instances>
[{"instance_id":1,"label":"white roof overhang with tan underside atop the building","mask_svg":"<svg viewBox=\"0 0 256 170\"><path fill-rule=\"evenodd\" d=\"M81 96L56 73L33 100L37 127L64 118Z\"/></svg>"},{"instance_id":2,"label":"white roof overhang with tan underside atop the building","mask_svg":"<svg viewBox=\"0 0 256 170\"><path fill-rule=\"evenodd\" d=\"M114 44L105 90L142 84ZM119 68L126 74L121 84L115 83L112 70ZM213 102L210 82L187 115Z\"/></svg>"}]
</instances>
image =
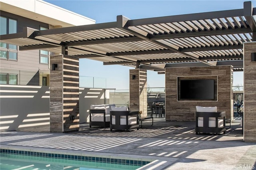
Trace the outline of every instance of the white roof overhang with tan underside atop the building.
<instances>
[{"instance_id":1,"label":"white roof overhang with tan underside atop the building","mask_svg":"<svg viewBox=\"0 0 256 170\"><path fill-rule=\"evenodd\" d=\"M54 26L95 24L95 20L42 0L0 0L0 2L1 10Z\"/></svg>"}]
</instances>

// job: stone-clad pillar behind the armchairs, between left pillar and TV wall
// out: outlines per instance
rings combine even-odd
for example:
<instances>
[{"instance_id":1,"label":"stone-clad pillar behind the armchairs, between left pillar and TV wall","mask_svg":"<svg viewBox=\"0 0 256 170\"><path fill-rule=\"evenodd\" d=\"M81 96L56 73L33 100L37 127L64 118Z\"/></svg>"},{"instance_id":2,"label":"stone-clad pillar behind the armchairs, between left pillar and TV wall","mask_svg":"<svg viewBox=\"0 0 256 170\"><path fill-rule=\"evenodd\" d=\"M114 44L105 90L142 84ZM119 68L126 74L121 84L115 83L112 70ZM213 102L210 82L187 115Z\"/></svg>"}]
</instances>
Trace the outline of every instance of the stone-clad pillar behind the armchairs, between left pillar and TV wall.
<instances>
[{"instance_id":1,"label":"stone-clad pillar behind the armchairs, between left pillar and TV wall","mask_svg":"<svg viewBox=\"0 0 256 170\"><path fill-rule=\"evenodd\" d=\"M132 79L135 75L135 79ZM144 69L130 69L130 110L142 111L147 115L147 71Z\"/></svg>"}]
</instances>

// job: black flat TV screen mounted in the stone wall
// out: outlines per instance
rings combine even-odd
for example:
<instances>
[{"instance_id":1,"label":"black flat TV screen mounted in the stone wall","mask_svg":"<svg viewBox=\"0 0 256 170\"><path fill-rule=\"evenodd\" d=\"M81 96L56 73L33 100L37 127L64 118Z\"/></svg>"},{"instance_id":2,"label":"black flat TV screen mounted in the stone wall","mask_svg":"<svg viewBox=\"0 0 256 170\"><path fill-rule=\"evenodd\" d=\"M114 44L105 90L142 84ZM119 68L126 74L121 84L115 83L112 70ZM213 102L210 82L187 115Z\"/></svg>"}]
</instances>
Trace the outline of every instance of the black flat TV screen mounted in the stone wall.
<instances>
[{"instance_id":1,"label":"black flat TV screen mounted in the stone wall","mask_svg":"<svg viewBox=\"0 0 256 170\"><path fill-rule=\"evenodd\" d=\"M214 80L180 80L180 99L214 99Z\"/></svg>"}]
</instances>

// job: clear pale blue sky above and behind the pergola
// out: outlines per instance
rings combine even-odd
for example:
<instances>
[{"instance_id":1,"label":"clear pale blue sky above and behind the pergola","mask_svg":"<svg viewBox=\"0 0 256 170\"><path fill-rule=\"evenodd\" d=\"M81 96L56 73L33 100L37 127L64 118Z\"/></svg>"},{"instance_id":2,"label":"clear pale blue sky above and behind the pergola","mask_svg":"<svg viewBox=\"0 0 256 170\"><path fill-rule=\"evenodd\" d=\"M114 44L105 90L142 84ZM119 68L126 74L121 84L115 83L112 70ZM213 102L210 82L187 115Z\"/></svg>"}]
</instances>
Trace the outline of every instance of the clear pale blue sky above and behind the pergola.
<instances>
[{"instance_id":1,"label":"clear pale blue sky above and behind the pergola","mask_svg":"<svg viewBox=\"0 0 256 170\"><path fill-rule=\"evenodd\" d=\"M44 0L66 10L96 20L96 24L115 22L122 15L131 20L241 9L248 0ZM253 6L256 1L252 0ZM106 88L129 89L129 70L122 65L103 65L103 62L80 59L80 76L106 79ZM148 71L148 87L165 87L165 75ZM234 72L233 85L243 85L243 72Z\"/></svg>"}]
</instances>

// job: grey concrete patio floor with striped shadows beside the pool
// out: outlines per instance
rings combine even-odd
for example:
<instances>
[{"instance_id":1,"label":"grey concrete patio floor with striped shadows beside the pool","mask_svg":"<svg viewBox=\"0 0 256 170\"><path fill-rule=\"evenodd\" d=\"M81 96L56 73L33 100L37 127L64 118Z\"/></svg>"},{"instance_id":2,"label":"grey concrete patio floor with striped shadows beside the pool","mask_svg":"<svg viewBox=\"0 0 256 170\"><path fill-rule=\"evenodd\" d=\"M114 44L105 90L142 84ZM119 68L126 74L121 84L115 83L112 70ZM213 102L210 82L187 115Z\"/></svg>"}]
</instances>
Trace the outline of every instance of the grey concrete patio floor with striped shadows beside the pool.
<instances>
[{"instance_id":1,"label":"grey concrete patio floor with striped shadows beside the pool","mask_svg":"<svg viewBox=\"0 0 256 170\"><path fill-rule=\"evenodd\" d=\"M155 119L139 130L110 131L80 124L76 132L34 128L0 133L1 148L86 154L151 161L140 170L255 169L256 143L243 142L238 123L226 124L226 134L198 134L194 122Z\"/></svg>"}]
</instances>

